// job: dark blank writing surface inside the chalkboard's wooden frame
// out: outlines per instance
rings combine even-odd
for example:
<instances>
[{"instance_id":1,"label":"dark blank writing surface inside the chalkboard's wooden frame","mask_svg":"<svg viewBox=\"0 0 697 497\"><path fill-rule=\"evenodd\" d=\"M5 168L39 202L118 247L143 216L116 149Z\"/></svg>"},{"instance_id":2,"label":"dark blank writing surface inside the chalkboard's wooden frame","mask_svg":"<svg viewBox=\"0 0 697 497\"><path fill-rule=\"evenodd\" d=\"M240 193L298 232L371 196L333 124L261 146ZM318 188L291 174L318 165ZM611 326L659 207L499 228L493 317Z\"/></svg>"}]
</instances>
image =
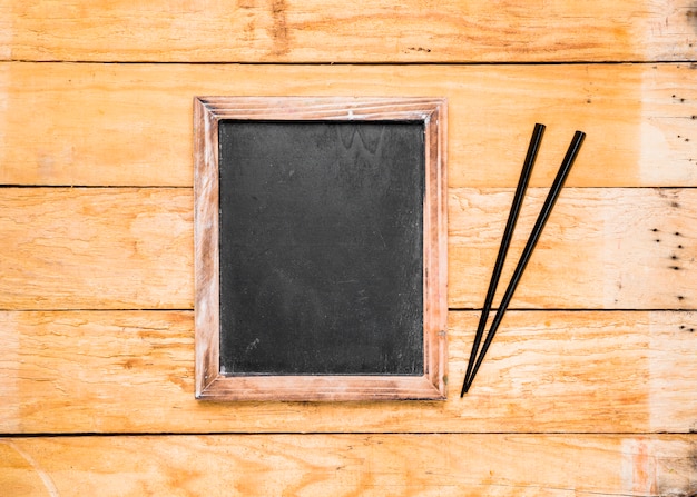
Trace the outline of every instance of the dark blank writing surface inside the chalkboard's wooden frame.
<instances>
[{"instance_id":1,"label":"dark blank writing surface inside the chalkboard's wooden frame","mask_svg":"<svg viewBox=\"0 0 697 497\"><path fill-rule=\"evenodd\" d=\"M219 121L222 374L424 374L424 147L421 121Z\"/></svg>"}]
</instances>

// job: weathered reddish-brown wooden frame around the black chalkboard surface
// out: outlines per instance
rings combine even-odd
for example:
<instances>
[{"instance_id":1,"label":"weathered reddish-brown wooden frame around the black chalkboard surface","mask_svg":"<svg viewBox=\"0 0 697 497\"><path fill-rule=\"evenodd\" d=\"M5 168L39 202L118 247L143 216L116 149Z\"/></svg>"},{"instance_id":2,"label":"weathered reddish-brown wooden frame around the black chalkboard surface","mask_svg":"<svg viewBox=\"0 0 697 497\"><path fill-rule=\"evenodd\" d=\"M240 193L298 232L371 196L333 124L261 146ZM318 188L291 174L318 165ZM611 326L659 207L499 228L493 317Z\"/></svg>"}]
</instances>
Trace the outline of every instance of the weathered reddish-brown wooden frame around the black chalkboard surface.
<instances>
[{"instance_id":1,"label":"weathered reddish-brown wooden frame around the black chalkboard surface","mask_svg":"<svg viewBox=\"0 0 697 497\"><path fill-rule=\"evenodd\" d=\"M444 399L448 384L445 99L197 97L194 99L196 398L203 400ZM423 203L423 376L229 376L219 367L218 122L235 120L421 121Z\"/></svg>"}]
</instances>

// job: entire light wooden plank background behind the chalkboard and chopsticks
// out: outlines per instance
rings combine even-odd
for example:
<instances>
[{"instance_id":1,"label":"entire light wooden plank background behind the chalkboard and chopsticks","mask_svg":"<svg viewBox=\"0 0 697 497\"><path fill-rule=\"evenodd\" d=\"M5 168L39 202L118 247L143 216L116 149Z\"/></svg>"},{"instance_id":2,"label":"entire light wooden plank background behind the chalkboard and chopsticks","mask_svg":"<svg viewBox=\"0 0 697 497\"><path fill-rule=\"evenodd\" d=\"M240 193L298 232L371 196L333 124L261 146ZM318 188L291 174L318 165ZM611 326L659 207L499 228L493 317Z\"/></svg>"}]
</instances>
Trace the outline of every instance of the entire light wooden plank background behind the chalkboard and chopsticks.
<instances>
[{"instance_id":1,"label":"entire light wooden plank background behind the chalkboard and chopsticks","mask_svg":"<svg viewBox=\"0 0 697 497\"><path fill-rule=\"evenodd\" d=\"M697 494L695 0L0 0L0 495ZM194 399L196 95L449 99L446 401Z\"/></svg>"}]
</instances>

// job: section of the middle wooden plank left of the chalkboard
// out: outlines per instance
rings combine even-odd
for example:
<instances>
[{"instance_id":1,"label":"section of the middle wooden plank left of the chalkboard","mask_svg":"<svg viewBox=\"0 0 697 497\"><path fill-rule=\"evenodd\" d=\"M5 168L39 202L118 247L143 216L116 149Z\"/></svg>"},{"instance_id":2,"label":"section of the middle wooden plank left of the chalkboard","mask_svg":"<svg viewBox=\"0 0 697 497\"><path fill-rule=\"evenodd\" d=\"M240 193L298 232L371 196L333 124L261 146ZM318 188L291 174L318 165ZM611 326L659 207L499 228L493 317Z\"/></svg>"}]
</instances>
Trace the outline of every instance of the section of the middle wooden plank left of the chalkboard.
<instances>
[{"instance_id":1,"label":"section of the middle wooden plank left of the chalkboard","mask_svg":"<svg viewBox=\"0 0 697 497\"><path fill-rule=\"evenodd\" d=\"M0 190L0 308L193 307L190 189Z\"/></svg>"}]
</instances>

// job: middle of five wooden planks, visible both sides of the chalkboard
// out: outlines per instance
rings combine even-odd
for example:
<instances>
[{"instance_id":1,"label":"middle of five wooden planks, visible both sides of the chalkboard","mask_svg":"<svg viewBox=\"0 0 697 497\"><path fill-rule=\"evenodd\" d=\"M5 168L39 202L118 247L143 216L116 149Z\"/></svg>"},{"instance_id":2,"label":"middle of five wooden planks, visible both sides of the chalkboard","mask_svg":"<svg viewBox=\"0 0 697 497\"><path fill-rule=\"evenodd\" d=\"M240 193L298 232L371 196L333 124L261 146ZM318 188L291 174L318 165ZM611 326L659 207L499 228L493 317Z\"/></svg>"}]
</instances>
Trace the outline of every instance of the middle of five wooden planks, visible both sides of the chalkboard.
<instances>
[{"instance_id":1,"label":"middle of five wooden planks, visible both sides of the chalkboard","mask_svg":"<svg viewBox=\"0 0 697 497\"><path fill-rule=\"evenodd\" d=\"M482 306L512 195L450 190L450 307ZM544 196L529 190L504 282ZM3 189L0 309L193 309L193 203L181 188ZM567 188L511 308L695 309L696 217L695 189Z\"/></svg>"}]
</instances>

